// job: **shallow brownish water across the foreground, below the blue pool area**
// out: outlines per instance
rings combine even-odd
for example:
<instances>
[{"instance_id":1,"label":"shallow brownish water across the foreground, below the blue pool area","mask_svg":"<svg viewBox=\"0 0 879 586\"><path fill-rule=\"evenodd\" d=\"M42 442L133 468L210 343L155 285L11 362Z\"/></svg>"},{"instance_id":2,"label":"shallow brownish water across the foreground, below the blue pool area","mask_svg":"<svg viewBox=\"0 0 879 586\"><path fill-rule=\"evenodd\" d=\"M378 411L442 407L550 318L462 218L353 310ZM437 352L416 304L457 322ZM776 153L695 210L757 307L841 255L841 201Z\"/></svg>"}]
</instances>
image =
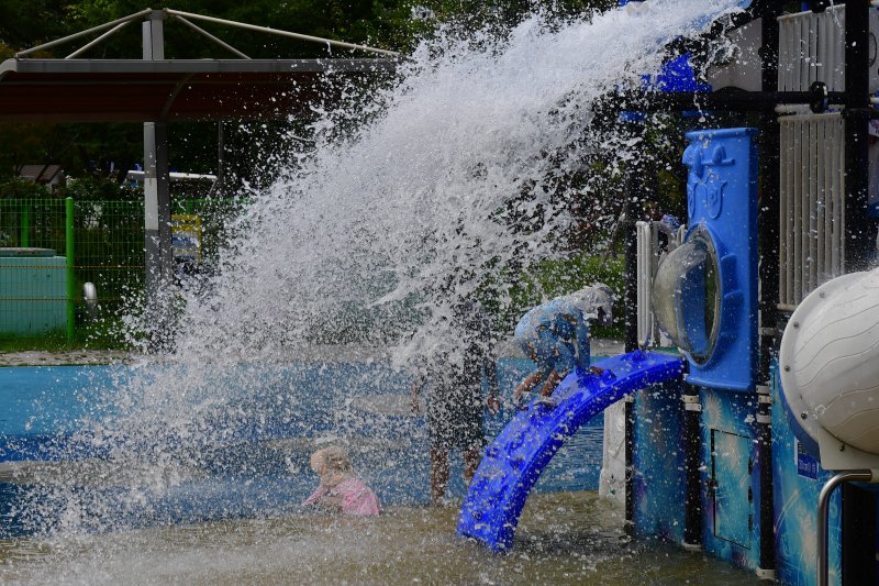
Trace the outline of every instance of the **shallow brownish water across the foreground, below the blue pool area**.
<instances>
[{"instance_id":1,"label":"shallow brownish water across the foreground, below the blue pool area","mask_svg":"<svg viewBox=\"0 0 879 586\"><path fill-rule=\"evenodd\" d=\"M455 535L457 507L290 516L0 542L3 584L758 584L702 553L628 539L594 493L534 495L514 550Z\"/></svg>"}]
</instances>

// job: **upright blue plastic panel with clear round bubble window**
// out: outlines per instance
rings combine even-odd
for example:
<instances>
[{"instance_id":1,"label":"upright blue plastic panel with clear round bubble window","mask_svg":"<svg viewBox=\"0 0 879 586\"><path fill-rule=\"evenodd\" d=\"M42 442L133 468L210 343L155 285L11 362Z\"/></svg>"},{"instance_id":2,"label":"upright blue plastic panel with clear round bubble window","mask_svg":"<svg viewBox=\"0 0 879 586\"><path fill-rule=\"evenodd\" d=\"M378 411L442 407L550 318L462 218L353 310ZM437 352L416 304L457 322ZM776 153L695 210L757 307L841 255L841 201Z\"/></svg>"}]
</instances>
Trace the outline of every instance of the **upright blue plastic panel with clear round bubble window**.
<instances>
[{"instance_id":1,"label":"upright blue plastic panel with clear round bubble window","mask_svg":"<svg viewBox=\"0 0 879 586\"><path fill-rule=\"evenodd\" d=\"M757 366L757 147L755 129L690 132L687 223L678 256L703 248L700 266L664 263L675 291L672 339L687 353L688 382L750 391ZM671 257L671 255L669 255ZM661 279L664 273L657 275ZM675 295L680 290L680 295Z\"/></svg>"}]
</instances>

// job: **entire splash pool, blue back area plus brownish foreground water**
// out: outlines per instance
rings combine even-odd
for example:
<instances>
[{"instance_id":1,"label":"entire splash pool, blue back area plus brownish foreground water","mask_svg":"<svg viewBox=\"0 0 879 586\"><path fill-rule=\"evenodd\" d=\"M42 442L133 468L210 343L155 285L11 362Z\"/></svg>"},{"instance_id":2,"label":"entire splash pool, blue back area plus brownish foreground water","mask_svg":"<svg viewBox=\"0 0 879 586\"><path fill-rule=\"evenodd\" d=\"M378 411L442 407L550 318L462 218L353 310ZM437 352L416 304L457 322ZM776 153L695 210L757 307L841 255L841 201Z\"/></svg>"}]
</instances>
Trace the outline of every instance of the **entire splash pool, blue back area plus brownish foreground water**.
<instances>
[{"instance_id":1,"label":"entire splash pool, blue back area plus brownish foreground water","mask_svg":"<svg viewBox=\"0 0 879 586\"><path fill-rule=\"evenodd\" d=\"M503 392L527 368L503 362ZM423 420L410 411L410 382L387 366L247 367L200 420L223 433L194 447L182 438L157 443L152 457L148 442L134 444L145 453L121 457L115 444L97 441L109 427L96 422L153 412L116 396L131 376L145 374L0 369L0 583L757 584L703 554L623 532L622 510L590 490L601 418L554 458L513 551L497 555L455 533L459 461L448 506L424 506ZM487 418L487 434L512 414ZM347 443L382 500L380 518L299 508L316 485L308 456L326 441Z\"/></svg>"}]
</instances>

